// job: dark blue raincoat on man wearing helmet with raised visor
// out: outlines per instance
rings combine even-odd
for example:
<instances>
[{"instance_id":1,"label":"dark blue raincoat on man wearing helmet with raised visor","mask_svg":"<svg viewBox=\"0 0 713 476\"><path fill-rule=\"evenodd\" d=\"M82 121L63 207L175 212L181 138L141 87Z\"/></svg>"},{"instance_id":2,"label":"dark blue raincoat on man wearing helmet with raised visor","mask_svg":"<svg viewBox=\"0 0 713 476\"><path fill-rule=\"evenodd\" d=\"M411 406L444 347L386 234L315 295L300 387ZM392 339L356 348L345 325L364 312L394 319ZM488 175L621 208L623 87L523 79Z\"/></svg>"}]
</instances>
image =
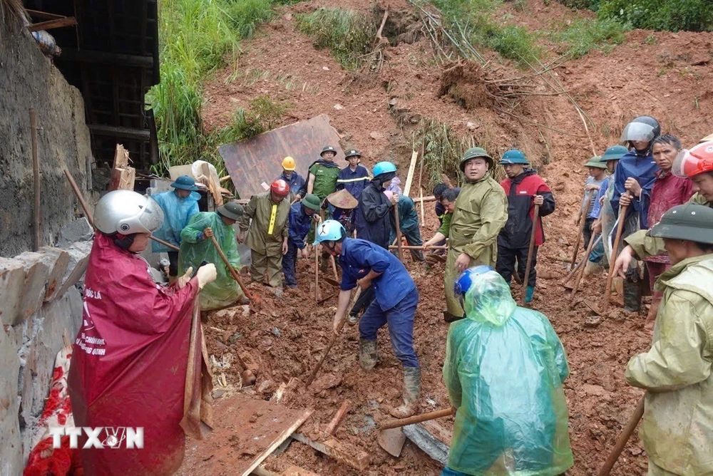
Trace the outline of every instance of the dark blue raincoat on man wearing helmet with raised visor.
<instances>
[{"instance_id":1,"label":"dark blue raincoat on man wearing helmet with raised visor","mask_svg":"<svg viewBox=\"0 0 713 476\"><path fill-rule=\"evenodd\" d=\"M612 196L612 209L614 209L615 216L619 214L619 197L622 193L626 192L624 188L624 182L627 178L635 178L639 185L641 185L641 197L634 198L632 200L629 209L627 210L627 222L629 222L630 217L633 214L638 214L638 227L640 229L648 229L648 215L649 215L649 203L651 189L654 187L654 181L656 180L656 172L659 170L659 166L654 162L654 157L651 152L647 152L646 155L638 153L636 150L630 150L624 157L617 163L617 168L614 172L614 181L610 182L610 186L614 185L614 195ZM627 230L626 234L634 232L634 230Z\"/></svg>"}]
</instances>

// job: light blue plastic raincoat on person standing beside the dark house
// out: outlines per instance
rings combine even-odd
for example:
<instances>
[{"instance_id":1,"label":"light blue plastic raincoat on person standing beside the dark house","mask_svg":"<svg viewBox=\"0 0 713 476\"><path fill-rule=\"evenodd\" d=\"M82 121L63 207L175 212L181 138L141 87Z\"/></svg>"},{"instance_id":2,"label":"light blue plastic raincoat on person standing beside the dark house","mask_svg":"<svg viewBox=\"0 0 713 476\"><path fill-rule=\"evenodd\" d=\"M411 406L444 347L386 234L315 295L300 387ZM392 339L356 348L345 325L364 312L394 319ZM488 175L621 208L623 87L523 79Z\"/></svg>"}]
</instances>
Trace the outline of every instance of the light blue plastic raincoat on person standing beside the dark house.
<instances>
[{"instance_id":1,"label":"light blue plastic raincoat on person standing beside the dark house","mask_svg":"<svg viewBox=\"0 0 713 476\"><path fill-rule=\"evenodd\" d=\"M191 217L199 212L198 200L200 200L200 194L198 192L190 192L188 197L180 198L172 190L151 195L151 198L163 209L163 224L153 233L153 236L180 247L181 230L190 222ZM158 242L151 243L151 250L154 253L175 251Z\"/></svg>"}]
</instances>

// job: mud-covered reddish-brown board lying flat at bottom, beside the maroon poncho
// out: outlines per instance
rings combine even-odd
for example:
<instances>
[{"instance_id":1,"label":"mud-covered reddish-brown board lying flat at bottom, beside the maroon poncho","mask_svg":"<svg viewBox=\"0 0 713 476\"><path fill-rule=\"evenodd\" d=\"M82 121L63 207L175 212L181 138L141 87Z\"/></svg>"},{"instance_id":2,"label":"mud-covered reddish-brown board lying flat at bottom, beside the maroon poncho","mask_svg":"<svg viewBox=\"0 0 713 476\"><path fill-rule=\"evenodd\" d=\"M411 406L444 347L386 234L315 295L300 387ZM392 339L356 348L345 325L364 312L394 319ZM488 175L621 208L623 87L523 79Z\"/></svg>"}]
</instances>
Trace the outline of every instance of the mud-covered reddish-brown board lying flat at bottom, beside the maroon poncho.
<instances>
[{"instance_id":1,"label":"mud-covered reddish-brown board lying flat at bottom, beside the maroon poncho","mask_svg":"<svg viewBox=\"0 0 713 476\"><path fill-rule=\"evenodd\" d=\"M205 440L191 440L184 467L193 474L250 475L304 423L312 410L291 410L279 403L252 400L237 393L213 408L215 428Z\"/></svg>"}]
</instances>

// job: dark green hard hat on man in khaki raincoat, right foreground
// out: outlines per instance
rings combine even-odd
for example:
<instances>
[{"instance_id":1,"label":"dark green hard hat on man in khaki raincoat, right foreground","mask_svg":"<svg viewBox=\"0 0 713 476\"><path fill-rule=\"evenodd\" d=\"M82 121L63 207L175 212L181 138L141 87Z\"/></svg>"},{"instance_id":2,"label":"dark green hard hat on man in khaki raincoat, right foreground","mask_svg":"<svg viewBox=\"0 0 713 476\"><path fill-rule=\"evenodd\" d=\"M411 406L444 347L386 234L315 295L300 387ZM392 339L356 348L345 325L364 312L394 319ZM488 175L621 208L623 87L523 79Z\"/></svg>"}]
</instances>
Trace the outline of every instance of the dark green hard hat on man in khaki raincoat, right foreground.
<instances>
[{"instance_id":1,"label":"dark green hard hat on man in khaki raincoat, right foreground","mask_svg":"<svg viewBox=\"0 0 713 476\"><path fill-rule=\"evenodd\" d=\"M713 244L713 209L692 203L673 207L647 236Z\"/></svg>"}]
</instances>

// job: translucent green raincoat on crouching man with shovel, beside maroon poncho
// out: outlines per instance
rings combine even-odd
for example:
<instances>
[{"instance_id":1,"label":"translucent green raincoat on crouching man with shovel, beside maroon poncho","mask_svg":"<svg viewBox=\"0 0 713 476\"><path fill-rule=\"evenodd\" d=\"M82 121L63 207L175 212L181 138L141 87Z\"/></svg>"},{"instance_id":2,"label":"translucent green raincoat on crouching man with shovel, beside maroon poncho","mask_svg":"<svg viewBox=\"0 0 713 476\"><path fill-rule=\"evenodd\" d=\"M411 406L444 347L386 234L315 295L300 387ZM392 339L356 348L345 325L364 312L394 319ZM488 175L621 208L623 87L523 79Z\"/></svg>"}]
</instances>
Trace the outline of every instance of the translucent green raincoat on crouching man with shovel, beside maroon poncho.
<instances>
[{"instance_id":1,"label":"translucent green raincoat on crouching man with shovel, beside maroon poncho","mask_svg":"<svg viewBox=\"0 0 713 476\"><path fill-rule=\"evenodd\" d=\"M225 224L215 212L201 212L193 215L188 225L180 233L183 240L178 252L178 276L183 276L185 270L193 267L196 271L202 262L215 264L217 279L206 284L200 292L200 309L220 309L230 306L242 297L242 289L235 279L232 279L225 263L220 258L217 249L210 238L200 239L204 229L210 227L220 248L225 253L228 262L235 269L240 269L240 254L237 252L237 240L232 226Z\"/></svg>"}]
</instances>

